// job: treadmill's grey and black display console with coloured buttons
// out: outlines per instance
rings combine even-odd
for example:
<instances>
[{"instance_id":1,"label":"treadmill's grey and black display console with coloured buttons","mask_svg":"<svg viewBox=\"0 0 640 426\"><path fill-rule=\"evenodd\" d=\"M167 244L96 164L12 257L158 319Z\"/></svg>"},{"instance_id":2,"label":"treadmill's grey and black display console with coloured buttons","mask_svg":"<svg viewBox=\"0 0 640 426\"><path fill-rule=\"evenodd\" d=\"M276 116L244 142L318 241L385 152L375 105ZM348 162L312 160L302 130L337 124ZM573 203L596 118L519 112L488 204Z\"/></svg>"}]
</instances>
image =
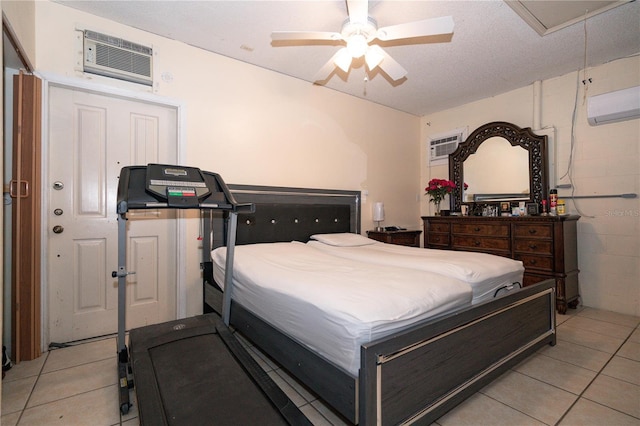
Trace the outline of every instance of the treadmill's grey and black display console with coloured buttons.
<instances>
[{"instance_id":1,"label":"treadmill's grey and black display console with coloured buttons","mask_svg":"<svg viewBox=\"0 0 640 426\"><path fill-rule=\"evenodd\" d=\"M146 190L179 208L197 208L211 194L200 169L167 164L147 165Z\"/></svg>"}]
</instances>

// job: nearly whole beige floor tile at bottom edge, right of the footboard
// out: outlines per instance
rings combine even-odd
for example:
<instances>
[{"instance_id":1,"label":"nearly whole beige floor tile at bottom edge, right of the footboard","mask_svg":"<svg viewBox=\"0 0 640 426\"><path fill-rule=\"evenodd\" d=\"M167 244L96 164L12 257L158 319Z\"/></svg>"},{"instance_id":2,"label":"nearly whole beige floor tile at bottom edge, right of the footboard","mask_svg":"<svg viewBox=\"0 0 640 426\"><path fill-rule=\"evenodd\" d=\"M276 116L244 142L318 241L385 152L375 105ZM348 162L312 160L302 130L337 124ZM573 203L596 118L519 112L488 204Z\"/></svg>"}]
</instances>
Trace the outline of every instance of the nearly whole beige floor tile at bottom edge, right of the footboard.
<instances>
[{"instance_id":1,"label":"nearly whole beige floor tile at bottom edge, right of the footboard","mask_svg":"<svg viewBox=\"0 0 640 426\"><path fill-rule=\"evenodd\" d=\"M517 371L503 374L481 392L550 425L558 422L578 398Z\"/></svg>"}]
</instances>

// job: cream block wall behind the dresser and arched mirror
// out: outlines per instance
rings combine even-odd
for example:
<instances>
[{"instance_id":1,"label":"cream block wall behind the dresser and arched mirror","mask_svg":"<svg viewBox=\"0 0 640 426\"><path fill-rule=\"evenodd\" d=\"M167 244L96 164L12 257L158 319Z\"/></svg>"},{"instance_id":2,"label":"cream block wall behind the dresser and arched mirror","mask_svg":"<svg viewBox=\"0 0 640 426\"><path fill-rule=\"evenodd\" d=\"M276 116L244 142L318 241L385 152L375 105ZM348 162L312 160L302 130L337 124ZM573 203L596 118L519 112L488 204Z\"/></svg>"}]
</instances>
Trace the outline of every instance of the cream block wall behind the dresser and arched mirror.
<instances>
[{"instance_id":1,"label":"cream block wall behind the dresser and arched mirror","mask_svg":"<svg viewBox=\"0 0 640 426\"><path fill-rule=\"evenodd\" d=\"M582 80L591 83L582 84ZM625 58L422 118L422 140L431 134L468 126L469 132L491 121L533 127L539 107L538 133L550 136L550 186L572 183L575 195L640 194L640 120L592 127L586 97L640 85L640 57ZM573 120L576 107L575 125ZM572 128L574 129L572 132ZM541 130L544 129L544 130ZM573 138L572 150L572 133ZM421 157L426 159L425 143ZM571 155L573 151L573 155ZM569 159L573 162L569 167ZM567 170L569 177L563 176ZM447 166L429 168L423 161L422 183L448 176ZM561 179L562 178L562 179ZM559 190L560 198L571 190ZM423 203L421 214L430 214ZM640 198L567 200L578 222L578 257L582 303L594 308L640 315Z\"/></svg>"}]
</instances>

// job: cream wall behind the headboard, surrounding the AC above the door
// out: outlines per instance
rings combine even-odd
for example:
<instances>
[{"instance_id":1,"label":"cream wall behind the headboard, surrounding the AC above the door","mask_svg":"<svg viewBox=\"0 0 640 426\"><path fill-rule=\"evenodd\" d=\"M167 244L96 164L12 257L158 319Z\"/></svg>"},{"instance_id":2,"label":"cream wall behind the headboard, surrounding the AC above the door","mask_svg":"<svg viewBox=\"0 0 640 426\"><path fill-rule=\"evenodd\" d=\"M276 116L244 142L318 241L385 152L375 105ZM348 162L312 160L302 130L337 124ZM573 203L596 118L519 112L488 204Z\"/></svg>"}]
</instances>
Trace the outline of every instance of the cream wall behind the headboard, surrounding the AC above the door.
<instances>
[{"instance_id":1,"label":"cream wall behind the headboard, surrounding the AC above the door","mask_svg":"<svg viewBox=\"0 0 640 426\"><path fill-rule=\"evenodd\" d=\"M184 163L228 183L367 191L363 232L373 227L375 201L385 202L386 224L419 226L418 117L56 3L35 2L35 16L31 59L38 72L183 102ZM84 28L151 45L153 89L79 71L76 30ZM159 78L163 73L171 79ZM193 315L202 306L200 251L197 220L188 222L187 314Z\"/></svg>"}]
</instances>

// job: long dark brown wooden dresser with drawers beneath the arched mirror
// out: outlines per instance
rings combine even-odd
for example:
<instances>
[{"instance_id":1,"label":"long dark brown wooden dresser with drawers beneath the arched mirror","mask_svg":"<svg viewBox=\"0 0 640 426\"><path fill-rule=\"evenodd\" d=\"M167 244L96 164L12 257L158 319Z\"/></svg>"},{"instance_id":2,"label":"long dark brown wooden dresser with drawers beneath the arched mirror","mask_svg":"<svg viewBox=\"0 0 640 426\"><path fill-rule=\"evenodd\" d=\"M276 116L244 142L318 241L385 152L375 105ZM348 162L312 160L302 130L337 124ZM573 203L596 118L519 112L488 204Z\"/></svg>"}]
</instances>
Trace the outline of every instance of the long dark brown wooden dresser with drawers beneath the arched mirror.
<instances>
[{"instance_id":1,"label":"long dark brown wooden dresser with drawers beneath the arched mirror","mask_svg":"<svg viewBox=\"0 0 640 426\"><path fill-rule=\"evenodd\" d=\"M578 303L580 216L423 216L425 248L479 251L521 260L523 285L556 280L558 312Z\"/></svg>"}]
</instances>

